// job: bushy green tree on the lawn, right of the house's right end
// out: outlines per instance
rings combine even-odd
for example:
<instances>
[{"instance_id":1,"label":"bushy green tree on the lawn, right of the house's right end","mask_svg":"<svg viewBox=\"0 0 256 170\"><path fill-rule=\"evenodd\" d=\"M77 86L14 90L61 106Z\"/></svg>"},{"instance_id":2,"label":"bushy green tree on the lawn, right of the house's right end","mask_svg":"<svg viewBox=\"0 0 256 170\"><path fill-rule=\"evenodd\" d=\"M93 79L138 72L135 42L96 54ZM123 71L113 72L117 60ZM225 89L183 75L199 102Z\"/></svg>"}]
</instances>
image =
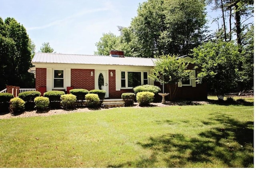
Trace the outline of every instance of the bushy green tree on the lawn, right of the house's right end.
<instances>
[{"instance_id":1,"label":"bushy green tree on the lawn, right of the house's right end","mask_svg":"<svg viewBox=\"0 0 256 170\"><path fill-rule=\"evenodd\" d=\"M207 42L193 49L194 59L202 70L198 73L199 83L207 82L218 100L224 94L234 91L238 82L238 62L240 53L234 42Z\"/></svg>"}]
</instances>

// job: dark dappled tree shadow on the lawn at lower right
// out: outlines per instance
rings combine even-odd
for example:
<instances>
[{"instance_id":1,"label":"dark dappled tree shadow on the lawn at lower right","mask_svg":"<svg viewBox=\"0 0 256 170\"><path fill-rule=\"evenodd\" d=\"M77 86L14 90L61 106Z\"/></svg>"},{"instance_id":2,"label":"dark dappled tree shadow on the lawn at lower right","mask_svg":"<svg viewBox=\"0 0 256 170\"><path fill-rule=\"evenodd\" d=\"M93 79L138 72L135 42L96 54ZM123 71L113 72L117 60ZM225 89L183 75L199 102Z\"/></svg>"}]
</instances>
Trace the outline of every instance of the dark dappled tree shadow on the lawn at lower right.
<instances>
[{"instance_id":1,"label":"dark dappled tree shadow on the lawn at lower right","mask_svg":"<svg viewBox=\"0 0 256 170\"><path fill-rule=\"evenodd\" d=\"M138 142L151 151L147 158L114 164L108 167L229 167L245 168L254 166L253 122L240 122L223 114L213 114L204 125L217 121L213 128L200 132L198 137L187 134L164 134L151 137L148 142ZM166 120L163 123L172 124ZM160 166L159 166L160 165ZM204 167L203 167L204 166Z\"/></svg>"}]
</instances>

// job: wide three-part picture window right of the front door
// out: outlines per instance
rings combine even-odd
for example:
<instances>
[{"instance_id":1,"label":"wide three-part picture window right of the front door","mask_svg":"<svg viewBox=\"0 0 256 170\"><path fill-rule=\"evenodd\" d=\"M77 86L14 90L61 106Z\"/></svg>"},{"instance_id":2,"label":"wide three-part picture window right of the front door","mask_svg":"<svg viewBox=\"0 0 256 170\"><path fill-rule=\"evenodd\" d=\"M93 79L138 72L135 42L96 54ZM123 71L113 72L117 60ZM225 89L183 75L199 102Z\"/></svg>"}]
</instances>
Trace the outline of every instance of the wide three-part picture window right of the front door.
<instances>
[{"instance_id":1,"label":"wide three-part picture window right of the front door","mask_svg":"<svg viewBox=\"0 0 256 170\"><path fill-rule=\"evenodd\" d=\"M121 71L121 88L132 89L148 84L148 73L143 71Z\"/></svg>"}]
</instances>

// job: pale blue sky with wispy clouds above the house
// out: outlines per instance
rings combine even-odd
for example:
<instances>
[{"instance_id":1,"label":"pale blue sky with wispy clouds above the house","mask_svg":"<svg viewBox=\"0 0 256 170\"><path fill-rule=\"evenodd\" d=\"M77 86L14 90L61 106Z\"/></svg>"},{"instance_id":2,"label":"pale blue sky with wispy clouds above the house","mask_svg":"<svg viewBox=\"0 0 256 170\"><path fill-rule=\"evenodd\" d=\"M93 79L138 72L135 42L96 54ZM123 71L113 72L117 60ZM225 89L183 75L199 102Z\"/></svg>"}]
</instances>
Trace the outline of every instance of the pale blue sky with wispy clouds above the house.
<instances>
[{"instance_id":1,"label":"pale blue sky with wispy clouds above the house","mask_svg":"<svg viewBox=\"0 0 256 170\"><path fill-rule=\"evenodd\" d=\"M88 54L103 33L119 35L145 0L0 0L0 17L15 18L36 45L49 42L57 53ZM216 12L208 10L208 19ZM216 26L211 25L212 30Z\"/></svg>"}]
</instances>

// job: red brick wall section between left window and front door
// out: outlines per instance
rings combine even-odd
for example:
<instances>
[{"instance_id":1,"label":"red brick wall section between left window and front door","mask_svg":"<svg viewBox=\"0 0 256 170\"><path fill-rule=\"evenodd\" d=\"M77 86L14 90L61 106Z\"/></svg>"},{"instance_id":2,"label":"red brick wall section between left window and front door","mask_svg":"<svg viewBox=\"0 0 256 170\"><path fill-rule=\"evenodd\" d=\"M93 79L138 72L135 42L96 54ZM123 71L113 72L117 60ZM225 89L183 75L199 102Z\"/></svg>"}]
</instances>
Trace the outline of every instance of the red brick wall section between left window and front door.
<instances>
[{"instance_id":1,"label":"red brick wall section between left window and front door","mask_svg":"<svg viewBox=\"0 0 256 170\"><path fill-rule=\"evenodd\" d=\"M91 71L93 76L91 76ZM74 89L94 89L94 69L71 69L71 87Z\"/></svg>"}]
</instances>

